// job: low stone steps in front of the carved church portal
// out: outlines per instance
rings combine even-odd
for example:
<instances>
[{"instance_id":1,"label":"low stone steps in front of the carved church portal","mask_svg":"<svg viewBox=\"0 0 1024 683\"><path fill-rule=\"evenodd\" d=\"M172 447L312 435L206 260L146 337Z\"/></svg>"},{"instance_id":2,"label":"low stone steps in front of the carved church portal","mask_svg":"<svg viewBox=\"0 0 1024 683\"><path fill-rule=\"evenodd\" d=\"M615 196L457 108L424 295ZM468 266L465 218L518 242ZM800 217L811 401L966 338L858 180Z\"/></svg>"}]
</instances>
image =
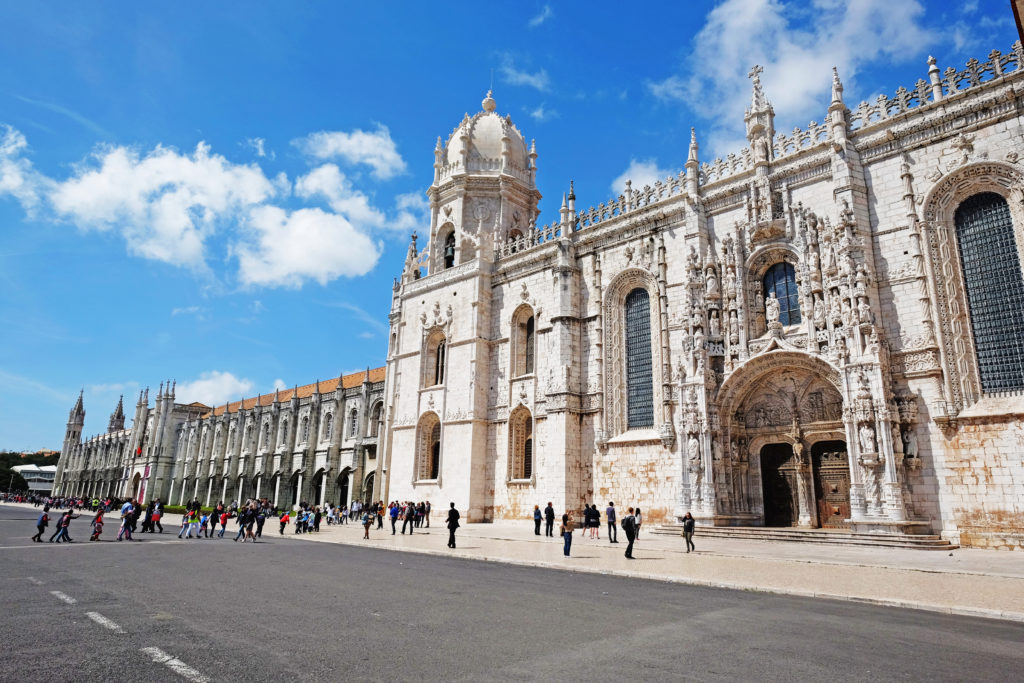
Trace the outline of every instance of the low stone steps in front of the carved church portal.
<instances>
[{"instance_id":1,"label":"low stone steps in front of the carved church portal","mask_svg":"<svg viewBox=\"0 0 1024 683\"><path fill-rule=\"evenodd\" d=\"M660 524L653 533L681 536L681 524ZM765 526L697 526L695 536L712 539L741 539L746 541L783 541L788 543L817 543L841 546L868 546L874 548L911 548L916 550L955 550L959 546L934 533L853 533L842 529L778 528Z\"/></svg>"}]
</instances>

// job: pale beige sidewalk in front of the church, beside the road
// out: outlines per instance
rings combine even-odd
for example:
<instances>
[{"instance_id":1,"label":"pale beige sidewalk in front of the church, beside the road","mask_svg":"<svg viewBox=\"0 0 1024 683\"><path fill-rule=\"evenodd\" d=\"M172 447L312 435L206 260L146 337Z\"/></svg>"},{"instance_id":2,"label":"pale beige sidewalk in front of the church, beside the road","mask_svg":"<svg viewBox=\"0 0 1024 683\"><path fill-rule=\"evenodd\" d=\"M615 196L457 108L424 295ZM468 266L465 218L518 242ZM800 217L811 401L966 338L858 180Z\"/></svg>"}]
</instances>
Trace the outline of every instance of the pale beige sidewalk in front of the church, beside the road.
<instances>
[{"instance_id":1,"label":"pale beige sidewalk in front of the church, beside the road","mask_svg":"<svg viewBox=\"0 0 1024 683\"><path fill-rule=\"evenodd\" d=\"M167 515L164 519L171 539L177 533L180 519L180 515ZM620 543L611 545L606 538L606 527L602 527L600 540L585 539L578 530L572 539L571 557L564 557L562 540L535 536L532 520L464 524L458 531L456 550L445 547L447 529L443 519L432 521L432 527L421 527L412 536L392 536L390 522L385 520L383 528L375 526L370 530L369 541L362 539L362 527L357 523L328 526L325 521L318 533L303 535L296 535L294 523L289 523L285 536L281 537L276 518L270 518L263 531L268 541L274 542L364 546L1024 622L1024 553L1021 552L970 548L925 551L701 539L698 527L694 537L697 550L686 554L681 538L652 535L645 528L634 547L637 559L628 560L624 557L625 533L620 529ZM233 538L237 528L233 520L228 522L227 533Z\"/></svg>"}]
</instances>

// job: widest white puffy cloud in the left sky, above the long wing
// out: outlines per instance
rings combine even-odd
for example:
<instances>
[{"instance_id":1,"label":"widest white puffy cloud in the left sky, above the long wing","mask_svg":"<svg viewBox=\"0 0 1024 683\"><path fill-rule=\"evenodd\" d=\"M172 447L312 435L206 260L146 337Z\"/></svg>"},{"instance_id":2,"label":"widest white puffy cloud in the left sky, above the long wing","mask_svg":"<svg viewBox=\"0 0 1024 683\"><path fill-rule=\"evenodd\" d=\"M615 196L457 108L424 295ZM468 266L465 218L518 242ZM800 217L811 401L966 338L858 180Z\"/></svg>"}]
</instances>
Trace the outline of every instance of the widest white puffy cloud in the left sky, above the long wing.
<instances>
[{"instance_id":1,"label":"widest white puffy cloud in the left sky, above the long wing","mask_svg":"<svg viewBox=\"0 0 1024 683\"><path fill-rule=\"evenodd\" d=\"M93 159L96 165L79 165L55 186L57 215L80 227L117 229L131 253L174 265L205 267L206 242L218 222L275 193L259 167L211 155L203 142L190 155L109 146Z\"/></svg>"}]
</instances>

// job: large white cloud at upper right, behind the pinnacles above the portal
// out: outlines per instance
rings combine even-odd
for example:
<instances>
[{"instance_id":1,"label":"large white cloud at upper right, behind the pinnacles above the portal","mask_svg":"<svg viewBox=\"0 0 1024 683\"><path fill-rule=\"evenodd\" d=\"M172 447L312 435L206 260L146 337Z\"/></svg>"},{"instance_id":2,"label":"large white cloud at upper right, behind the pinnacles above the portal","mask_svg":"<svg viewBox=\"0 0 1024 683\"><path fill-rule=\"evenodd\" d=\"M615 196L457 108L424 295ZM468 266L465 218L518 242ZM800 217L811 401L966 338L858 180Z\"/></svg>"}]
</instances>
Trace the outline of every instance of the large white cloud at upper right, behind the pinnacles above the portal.
<instances>
[{"instance_id":1,"label":"large white cloud at upper right, behind the pinnacles above the portal","mask_svg":"<svg viewBox=\"0 0 1024 683\"><path fill-rule=\"evenodd\" d=\"M647 83L667 100L682 100L735 137L750 103L748 72L765 68L761 79L786 130L821 121L828 104L831 67L839 67L848 97L865 68L924 55L940 32L923 25L919 0L816 0L813 12L780 0L726 0L709 12L693 41L686 76ZM736 150L712 147L724 155Z\"/></svg>"}]
</instances>

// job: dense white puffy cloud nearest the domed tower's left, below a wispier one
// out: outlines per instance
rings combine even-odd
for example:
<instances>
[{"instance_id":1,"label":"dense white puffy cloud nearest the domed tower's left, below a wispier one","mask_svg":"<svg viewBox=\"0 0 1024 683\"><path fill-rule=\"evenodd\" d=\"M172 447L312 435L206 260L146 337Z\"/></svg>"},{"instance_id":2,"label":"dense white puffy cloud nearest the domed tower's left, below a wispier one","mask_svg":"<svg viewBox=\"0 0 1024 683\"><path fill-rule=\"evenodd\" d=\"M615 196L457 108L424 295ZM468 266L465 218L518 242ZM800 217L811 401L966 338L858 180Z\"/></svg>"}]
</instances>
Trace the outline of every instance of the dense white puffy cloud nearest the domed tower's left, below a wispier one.
<instances>
[{"instance_id":1,"label":"dense white puffy cloud nearest the domed tower's left, below a wispier one","mask_svg":"<svg viewBox=\"0 0 1024 683\"><path fill-rule=\"evenodd\" d=\"M344 216L263 206L250 213L234 253L243 285L298 288L307 280L327 285L364 275L377 264L380 248Z\"/></svg>"}]
</instances>

